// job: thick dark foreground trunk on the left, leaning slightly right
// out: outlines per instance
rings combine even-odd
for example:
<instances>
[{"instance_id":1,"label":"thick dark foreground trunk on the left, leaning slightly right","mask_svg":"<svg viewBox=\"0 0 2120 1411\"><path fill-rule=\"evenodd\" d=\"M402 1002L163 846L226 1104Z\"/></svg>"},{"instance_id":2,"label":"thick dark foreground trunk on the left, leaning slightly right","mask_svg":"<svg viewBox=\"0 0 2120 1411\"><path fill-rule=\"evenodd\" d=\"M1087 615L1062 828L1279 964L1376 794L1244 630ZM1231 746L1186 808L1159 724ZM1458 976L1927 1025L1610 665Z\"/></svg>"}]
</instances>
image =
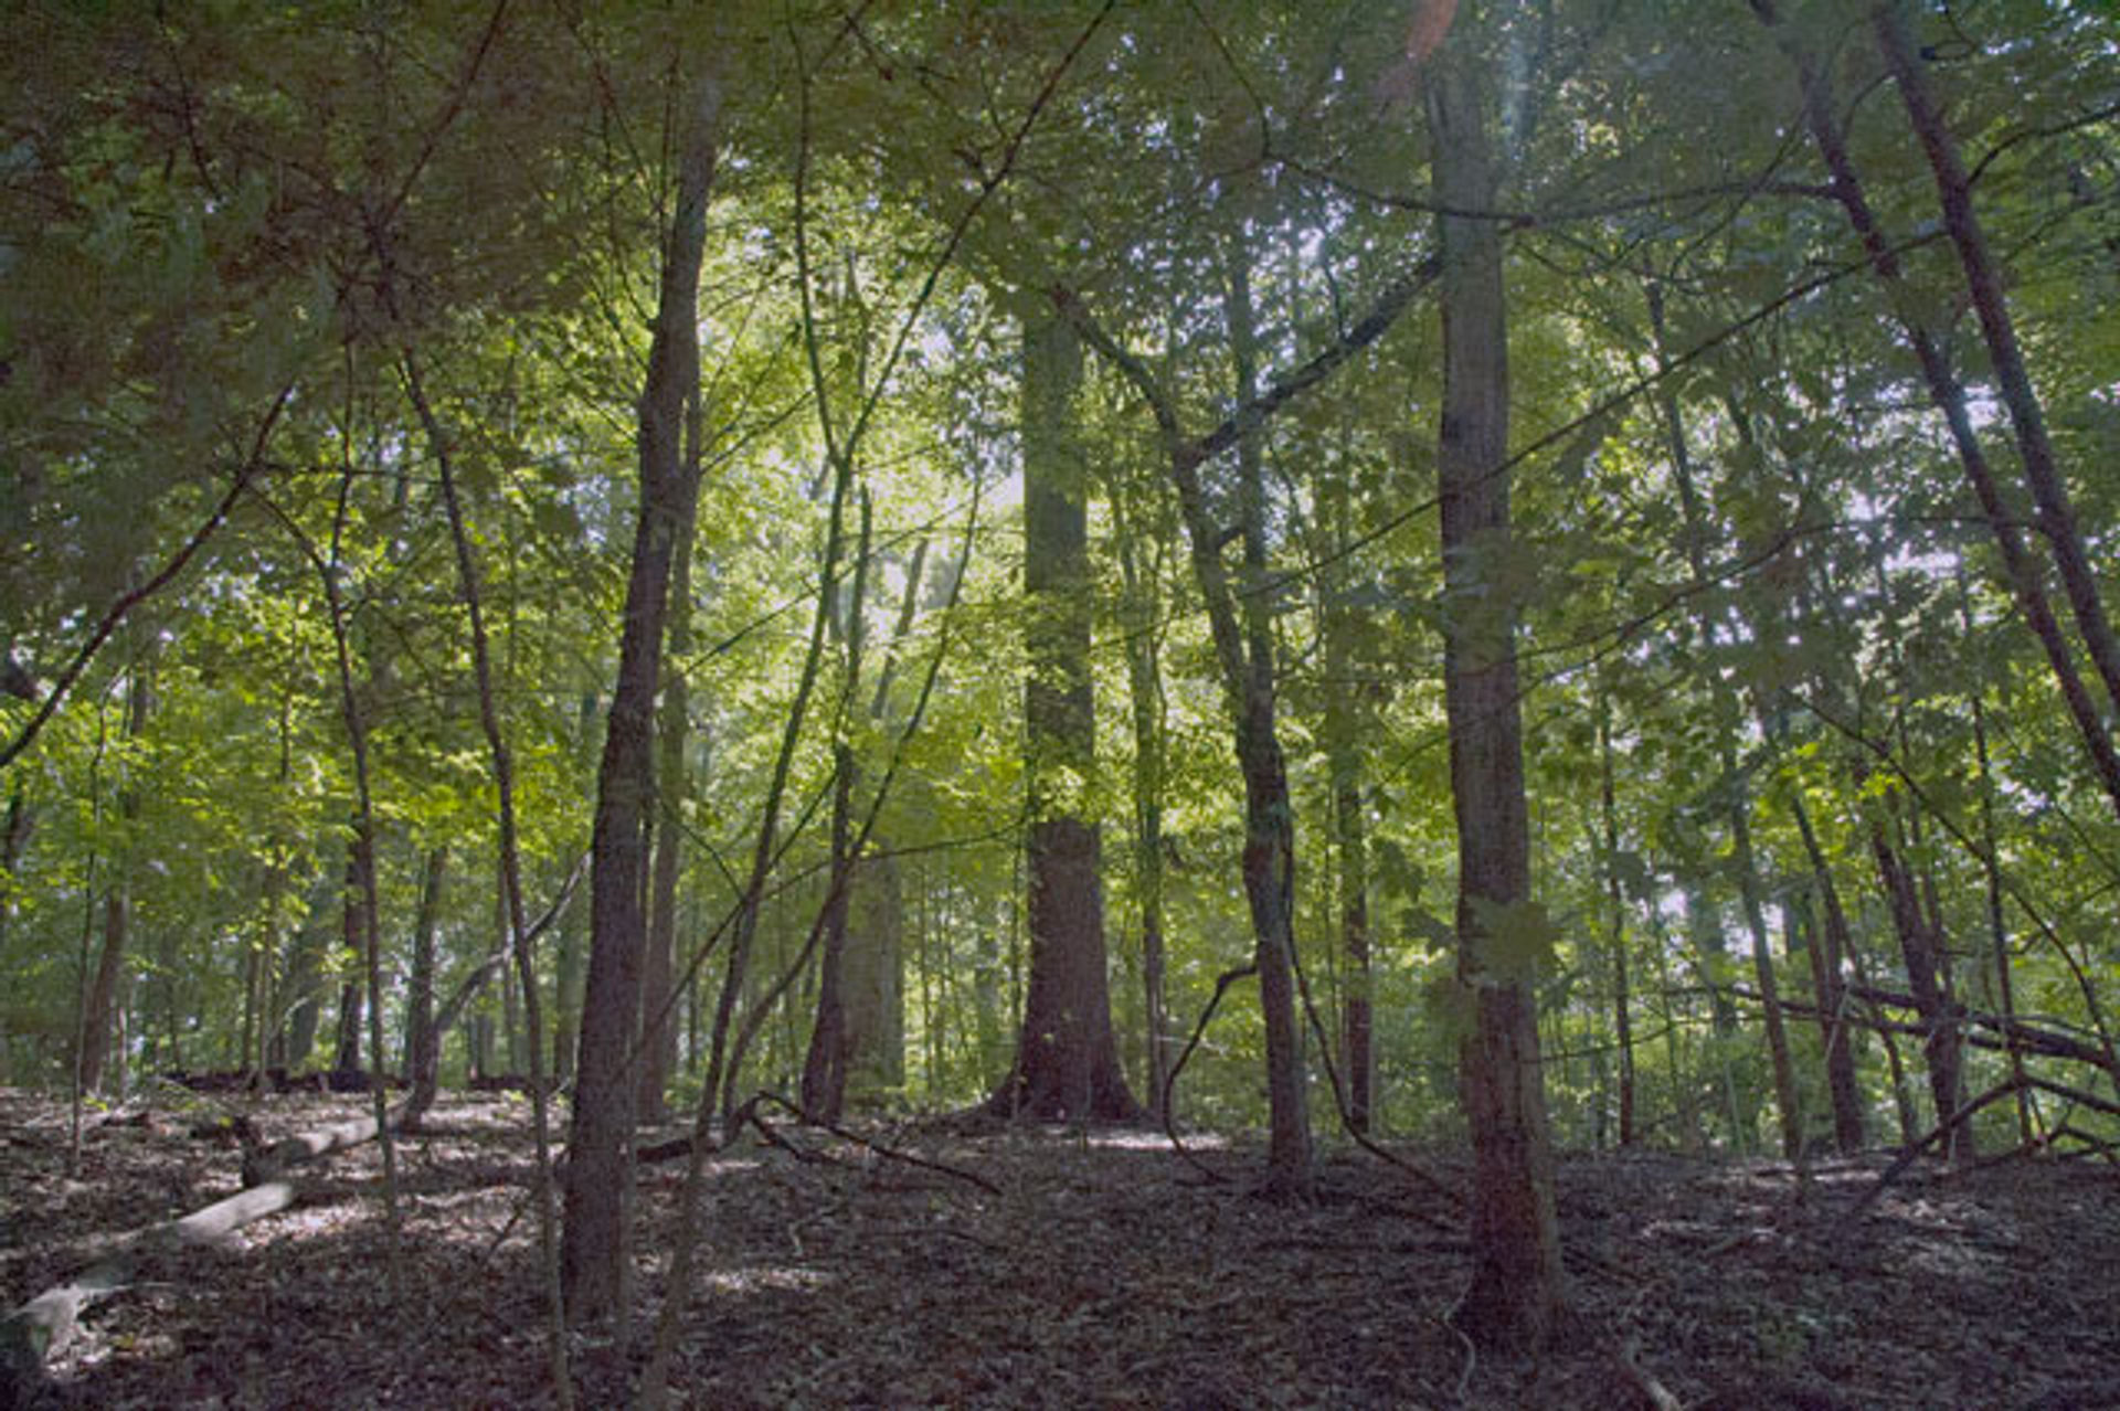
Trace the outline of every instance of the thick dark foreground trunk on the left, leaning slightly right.
<instances>
[{"instance_id":1,"label":"thick dark foreground trunk on the left, leaning slightly right","mask_svg":"<svg viewBox=\"0 0 2120 1411\"><path fill-rule=\"evenodd\" d=\"M619 674L604 727L589 843L589 970L575 1064L562 1286L568 1318L625 1326L632 1267L634 1038L640 1032L647 822L655 801L655 691L678 530L697 479L683 453L685 405L700 383L700 263L714 180L721 85L702 78L681 138L670 239L640 392L640 513L619 633Z\"/></svg>"}]
</instances>

